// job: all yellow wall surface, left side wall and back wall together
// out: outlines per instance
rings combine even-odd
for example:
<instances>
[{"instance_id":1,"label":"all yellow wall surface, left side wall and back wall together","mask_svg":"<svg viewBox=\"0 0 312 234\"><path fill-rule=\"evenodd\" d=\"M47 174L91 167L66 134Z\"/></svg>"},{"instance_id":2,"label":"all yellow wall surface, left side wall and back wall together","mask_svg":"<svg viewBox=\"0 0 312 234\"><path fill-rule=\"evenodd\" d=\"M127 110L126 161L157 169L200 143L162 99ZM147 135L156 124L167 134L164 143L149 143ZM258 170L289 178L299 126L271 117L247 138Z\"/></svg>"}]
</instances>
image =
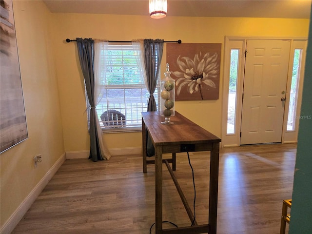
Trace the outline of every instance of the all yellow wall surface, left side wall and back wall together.
<instances>
[{"instance_id":1,"label":"all yellow wall surface, left side wall and back wall together","mask_svg":"<svg viewBox=\"0 0 312 234\"><path fill-rule=\"evenodd\" d=\"M14 1L20 69L29 138L0 155L1 226L19 208L64 152L88 151L86 104L76 37L131 40L181 39L222 43L225 36L307 37L309 20L184 18L52 14L41 1ZM165 71L166 48L161 65ZM220 95L215 101L180 101L176 110L221 136ZM141 133L106 134L110 149L140 147ZM34 169L33 157L42 154Z\"/></svg>"}]
</instances>

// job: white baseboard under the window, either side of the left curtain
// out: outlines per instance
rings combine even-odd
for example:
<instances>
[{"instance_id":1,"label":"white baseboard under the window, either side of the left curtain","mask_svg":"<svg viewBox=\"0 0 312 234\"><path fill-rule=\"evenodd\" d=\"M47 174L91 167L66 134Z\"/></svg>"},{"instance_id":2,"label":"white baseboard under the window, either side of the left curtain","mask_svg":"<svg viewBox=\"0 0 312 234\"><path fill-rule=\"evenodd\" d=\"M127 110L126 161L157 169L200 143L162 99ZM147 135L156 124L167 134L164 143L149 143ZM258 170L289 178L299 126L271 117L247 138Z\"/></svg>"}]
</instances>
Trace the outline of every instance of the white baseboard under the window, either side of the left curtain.
<instances>
[{"instance_id":1,"label":"white baseboard under the window, either side of the left curtain","mask_svg":"<svg viewBox=\"0 0 312 234\"><path fill-rule=\"evenodd\" d=\"M119 155L137 155L142 154L142 147L128 147L128 148L115 148L109 149L112 156ZM78 158L88 158L90 151L71 151L66 152L66 159L78 159Z\"/></svg>"}]
</instances>

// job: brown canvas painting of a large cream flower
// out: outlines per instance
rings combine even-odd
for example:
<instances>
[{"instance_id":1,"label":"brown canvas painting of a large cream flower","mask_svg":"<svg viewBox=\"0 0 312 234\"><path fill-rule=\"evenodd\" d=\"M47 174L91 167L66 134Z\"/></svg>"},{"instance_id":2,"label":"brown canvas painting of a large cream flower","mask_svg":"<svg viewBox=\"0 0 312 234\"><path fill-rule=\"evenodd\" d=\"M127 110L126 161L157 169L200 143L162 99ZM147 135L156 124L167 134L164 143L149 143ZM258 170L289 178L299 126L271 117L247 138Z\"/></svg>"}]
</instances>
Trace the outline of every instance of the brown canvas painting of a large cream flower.
<instances>
[{"instance_id":1,"label":"brown canvas painting of a large cream flower","mask_svg":"<svg viewBox=\"0 0 312 234\"><path fill-rule=\"evenodd\" d=\"M219 98L221 44L167 44L167 63L176 80L175 99Z\"/></svg>"}]
</instances>

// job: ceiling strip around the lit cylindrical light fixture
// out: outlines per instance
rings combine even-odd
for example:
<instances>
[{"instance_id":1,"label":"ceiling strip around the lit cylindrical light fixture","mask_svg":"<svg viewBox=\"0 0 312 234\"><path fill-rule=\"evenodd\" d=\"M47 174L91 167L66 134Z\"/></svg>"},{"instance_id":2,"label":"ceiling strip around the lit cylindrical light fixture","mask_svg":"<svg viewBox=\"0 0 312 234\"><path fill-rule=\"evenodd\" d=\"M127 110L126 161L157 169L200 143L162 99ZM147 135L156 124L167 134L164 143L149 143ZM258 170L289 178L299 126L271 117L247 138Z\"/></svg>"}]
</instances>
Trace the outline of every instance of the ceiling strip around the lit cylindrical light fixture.
<instances>
[{"instance_id":1,"label":"ceiling strip around the lit cylindrical light fixture","mask_svg":"<svg viewBox=\"0 0 312 234\"><path fill-rule=\"evenodd\" d=\"M149 15L149 0L43 0L53 13ZM310 19L312 0L168 0L167 16Z\"/></svg>"}]
</instances>

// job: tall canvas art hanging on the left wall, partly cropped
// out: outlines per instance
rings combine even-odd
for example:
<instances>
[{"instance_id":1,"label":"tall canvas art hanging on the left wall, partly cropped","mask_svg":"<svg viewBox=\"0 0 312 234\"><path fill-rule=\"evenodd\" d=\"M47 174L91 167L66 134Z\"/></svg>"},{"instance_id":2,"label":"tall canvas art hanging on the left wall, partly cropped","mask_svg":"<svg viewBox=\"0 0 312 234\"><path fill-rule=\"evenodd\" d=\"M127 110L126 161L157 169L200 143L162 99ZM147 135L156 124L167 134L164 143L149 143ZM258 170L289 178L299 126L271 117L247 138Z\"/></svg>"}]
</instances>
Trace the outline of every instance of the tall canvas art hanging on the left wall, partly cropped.
<instances>
[{"instance_id":1,"label":"tall canvas art hanging on the left wall, partly cropped","mask_svg":"<svg viewBox=\"0 0 312 234\"><path fill-rule=\"evenodd\" d=\"M28 137L12 0L0 1L0 152Z\"/></svg>"}]
</instances>

